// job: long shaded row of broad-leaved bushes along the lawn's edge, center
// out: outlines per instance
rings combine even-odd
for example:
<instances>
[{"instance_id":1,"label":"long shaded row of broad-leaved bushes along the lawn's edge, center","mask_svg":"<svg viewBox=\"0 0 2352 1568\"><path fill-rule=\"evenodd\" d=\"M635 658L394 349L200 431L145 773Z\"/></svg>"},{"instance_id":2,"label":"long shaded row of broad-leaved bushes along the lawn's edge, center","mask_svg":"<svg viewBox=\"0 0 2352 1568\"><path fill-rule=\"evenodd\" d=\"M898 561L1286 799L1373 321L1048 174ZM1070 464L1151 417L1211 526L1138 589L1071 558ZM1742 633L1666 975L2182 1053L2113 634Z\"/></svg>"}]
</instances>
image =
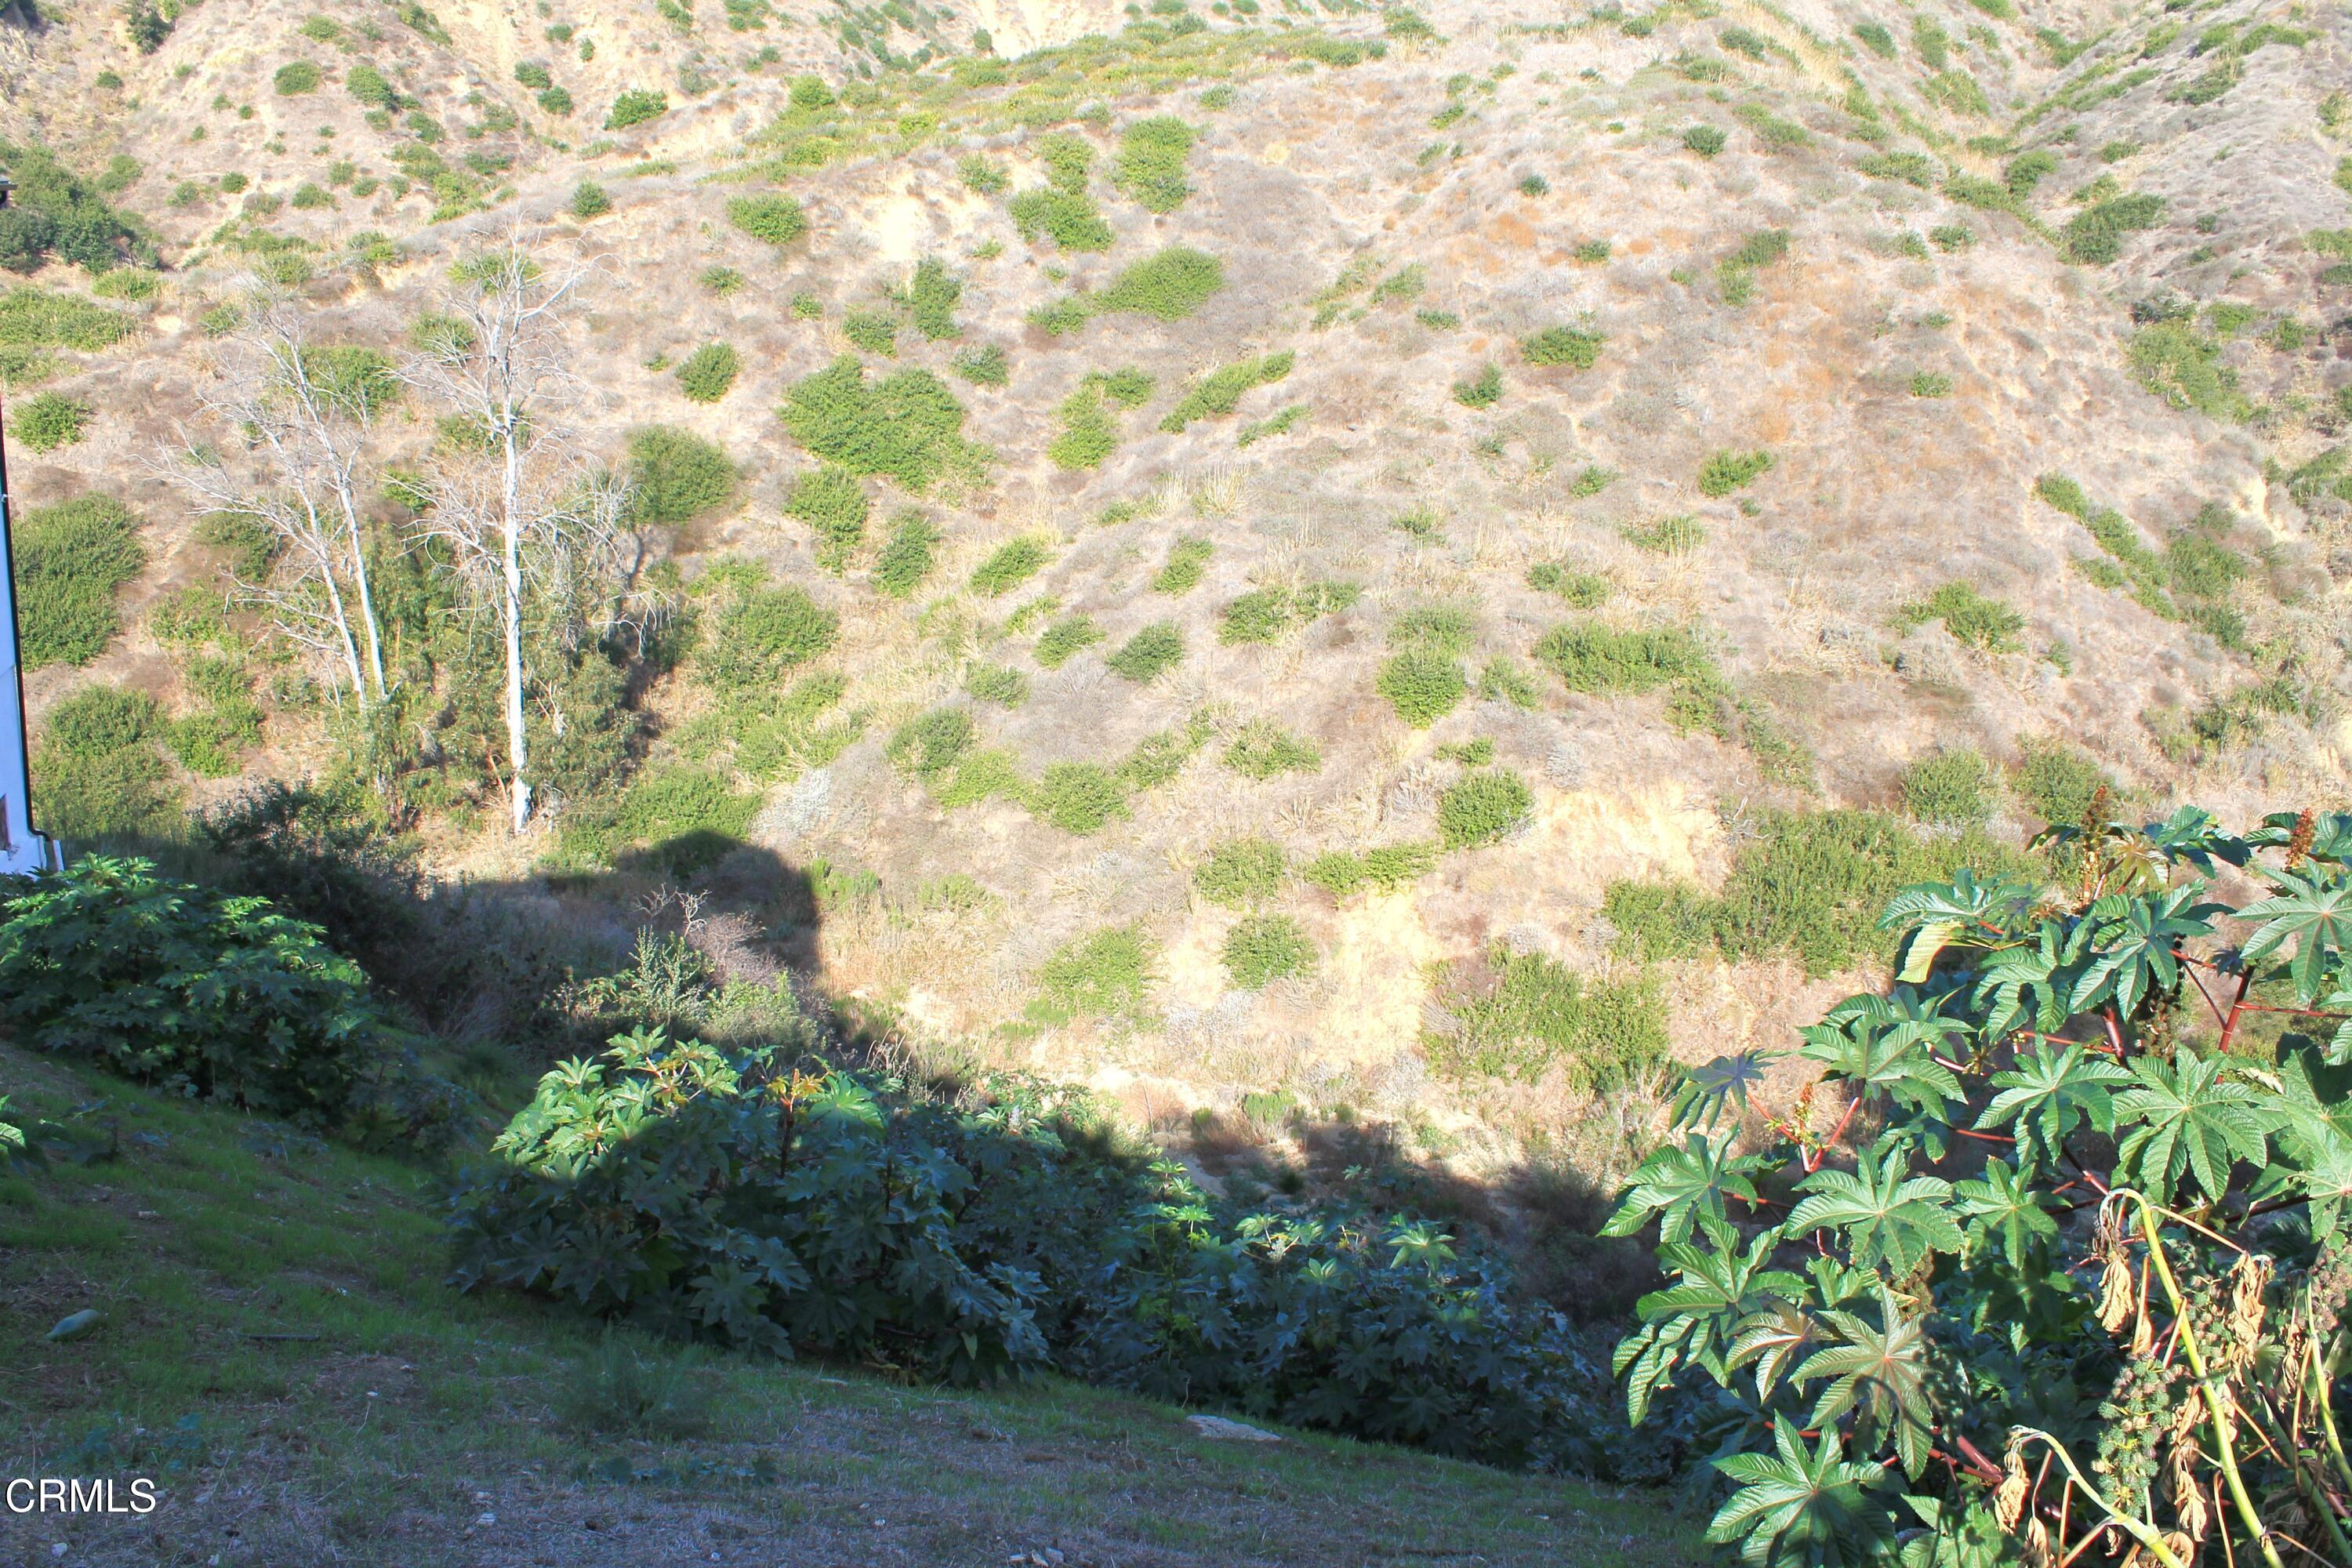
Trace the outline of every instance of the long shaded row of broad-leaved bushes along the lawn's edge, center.
<instances>
[{"instance_id":1,"label":"long shaded row of broad-leaved bushes along the lawn's edge, center","mask_svg":"<svg viewBox=\"0 0 2352 1568\"><path fill-rule=\"evenodd\" d=\"M1148 947L1105 938L1044 978L1063 1016L1141 1001ZM494 1154L452 1206L468 1288L920 1378L1056 1368L1508 1465L1597 1458L1581 1347L1454 1237L1211 1206L1068 1091L948 1105L637 1032L550 1072Z\"/></svg>"}]
</instances>

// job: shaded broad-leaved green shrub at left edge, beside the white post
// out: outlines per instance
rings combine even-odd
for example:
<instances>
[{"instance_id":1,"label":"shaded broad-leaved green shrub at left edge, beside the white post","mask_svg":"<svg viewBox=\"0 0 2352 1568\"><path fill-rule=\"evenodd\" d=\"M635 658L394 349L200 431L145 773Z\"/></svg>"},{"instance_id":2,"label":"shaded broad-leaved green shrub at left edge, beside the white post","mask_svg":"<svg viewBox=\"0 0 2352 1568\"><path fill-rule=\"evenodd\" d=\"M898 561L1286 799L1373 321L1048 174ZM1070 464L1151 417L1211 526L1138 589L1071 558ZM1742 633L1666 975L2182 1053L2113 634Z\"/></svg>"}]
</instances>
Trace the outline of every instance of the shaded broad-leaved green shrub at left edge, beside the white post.
<instances>
[{"instance_id":1,"label":"shaded broad-leaved green shrub at left edge, beside the white post","mask_svg":"<svg viewBox=\"0 0 2352 1568\"><path fill-rule=\"evenodd\" d=\"M85 856L0 912L0 1009L40 1051L306 1126L383 1074L367 976L266 898Z\"/></svg>"}]
</instances>

